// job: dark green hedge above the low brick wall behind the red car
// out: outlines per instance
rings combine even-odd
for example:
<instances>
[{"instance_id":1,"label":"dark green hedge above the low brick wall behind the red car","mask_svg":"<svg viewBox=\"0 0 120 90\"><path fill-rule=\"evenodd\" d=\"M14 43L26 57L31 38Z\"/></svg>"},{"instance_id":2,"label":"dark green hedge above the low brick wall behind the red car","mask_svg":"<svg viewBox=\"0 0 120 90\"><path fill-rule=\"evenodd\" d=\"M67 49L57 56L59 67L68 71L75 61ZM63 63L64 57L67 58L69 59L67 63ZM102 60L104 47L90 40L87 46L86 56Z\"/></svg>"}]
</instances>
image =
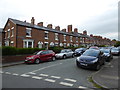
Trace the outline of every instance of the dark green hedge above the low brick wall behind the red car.
<instances>
[{"instance_id":1,"label":"dark green hedge above the low brick wall behind the red car","mask_svg":"<svg viewBox=\"0 0 120 90\"><path fill-rule=\"evenodd\" d=\"M45 50L45 48L15 48L15 47L1 47L2 55L23 55L23 54L33 54L34 52Z\"/></svg>"}]
</instances>

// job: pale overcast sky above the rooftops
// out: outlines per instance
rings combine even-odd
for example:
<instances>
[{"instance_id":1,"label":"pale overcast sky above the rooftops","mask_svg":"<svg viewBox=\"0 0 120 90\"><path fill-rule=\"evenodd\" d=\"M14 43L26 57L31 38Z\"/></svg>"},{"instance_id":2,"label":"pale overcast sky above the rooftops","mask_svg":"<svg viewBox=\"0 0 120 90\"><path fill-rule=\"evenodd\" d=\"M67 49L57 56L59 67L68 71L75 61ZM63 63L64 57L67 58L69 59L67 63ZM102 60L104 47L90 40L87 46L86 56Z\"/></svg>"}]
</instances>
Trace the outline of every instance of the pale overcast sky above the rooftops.
<instances>
[{"instance_id":1,"label":"pale overcast sky above the rooftops","mask_svg":"<svg viewBox=\"0 0 120 90\"><path fill-rule=\"evenodd\" d=\"M0 28L8 18L35 23L59 25L61 29L72 24L79 32L118 39L119 0L0 0Z\"/></svg>"}]
</instances>

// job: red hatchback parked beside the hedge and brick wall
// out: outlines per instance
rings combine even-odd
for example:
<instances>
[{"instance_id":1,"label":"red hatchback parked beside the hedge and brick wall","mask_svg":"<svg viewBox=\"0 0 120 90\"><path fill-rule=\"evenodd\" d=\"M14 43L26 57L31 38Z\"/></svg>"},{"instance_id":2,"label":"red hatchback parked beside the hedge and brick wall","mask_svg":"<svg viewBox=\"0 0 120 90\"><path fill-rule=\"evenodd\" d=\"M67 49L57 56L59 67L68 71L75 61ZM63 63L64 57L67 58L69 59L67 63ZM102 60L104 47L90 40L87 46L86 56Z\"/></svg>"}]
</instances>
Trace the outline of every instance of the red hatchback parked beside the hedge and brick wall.
<instances>
[{"instance_id":1,"label":"red hatchback parked beside the hedge and brick wall","mask_svg":"<svg viewBox=\"0 0 120 90\"><path fill-rule=\"evenodd\" d=\"M52 50L42 50L32 56L27 56L25 63L39 64L42 61L55 60L55 53Z\"/></svg>"}]
</instances>

